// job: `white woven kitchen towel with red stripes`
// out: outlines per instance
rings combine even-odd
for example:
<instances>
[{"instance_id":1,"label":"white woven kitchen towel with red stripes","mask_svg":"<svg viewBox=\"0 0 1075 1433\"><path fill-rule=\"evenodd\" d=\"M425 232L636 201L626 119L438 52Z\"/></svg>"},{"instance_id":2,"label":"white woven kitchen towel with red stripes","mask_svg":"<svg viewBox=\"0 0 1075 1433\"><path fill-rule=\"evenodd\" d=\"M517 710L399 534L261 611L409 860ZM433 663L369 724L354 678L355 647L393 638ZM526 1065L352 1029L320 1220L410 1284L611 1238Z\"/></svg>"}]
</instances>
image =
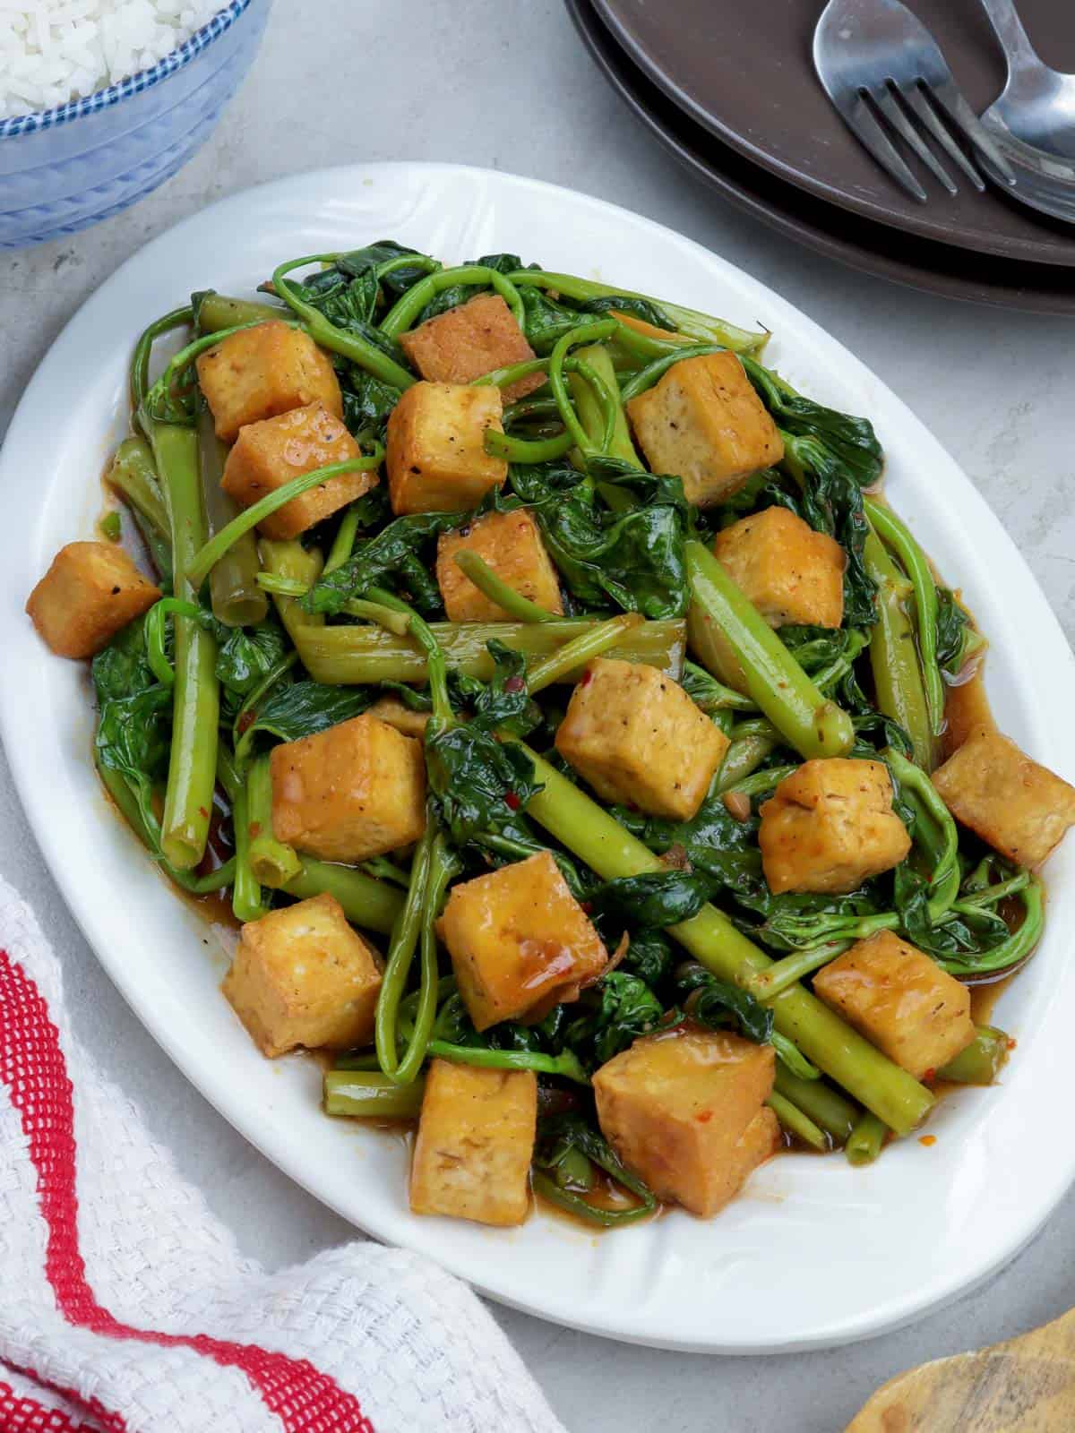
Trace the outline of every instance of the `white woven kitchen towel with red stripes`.
<instances>
[{"instance_id":1,"label":"white woven kitchen towel with red stripes","mask_svg":"<svg viewBox=\"0 0 1075 1433\"><path fill-rule=\"evenodd\" d=\"M426 1260L242 1258L72 1039L59 962L0 880L0 1433L434 1429L563 1433Z\"/></svg>"}]
</instances>

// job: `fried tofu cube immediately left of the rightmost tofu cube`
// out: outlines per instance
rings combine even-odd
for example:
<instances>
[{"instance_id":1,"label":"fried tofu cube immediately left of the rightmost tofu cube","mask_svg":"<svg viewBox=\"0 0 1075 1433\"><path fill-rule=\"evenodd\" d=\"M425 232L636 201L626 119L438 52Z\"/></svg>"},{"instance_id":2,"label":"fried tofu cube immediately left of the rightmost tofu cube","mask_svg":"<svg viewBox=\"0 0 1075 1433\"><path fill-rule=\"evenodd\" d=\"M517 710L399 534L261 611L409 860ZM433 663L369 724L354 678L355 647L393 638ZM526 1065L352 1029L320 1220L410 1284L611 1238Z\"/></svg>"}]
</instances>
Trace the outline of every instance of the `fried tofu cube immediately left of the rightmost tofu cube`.
<instances>
[{"instance_id":1,"label":"fried tofu cube immediately left of the rightmost tofu cube","mask_svg":"<svg viewBox=\"0 0 1075 1433\"><path fill-rule=\"evenodd\" d=\"M774 894L836 896L899 866L910 835L892 810L883 762L821 757L784 777L764 802L758 845Z\"/></svg>"}]
</instances>

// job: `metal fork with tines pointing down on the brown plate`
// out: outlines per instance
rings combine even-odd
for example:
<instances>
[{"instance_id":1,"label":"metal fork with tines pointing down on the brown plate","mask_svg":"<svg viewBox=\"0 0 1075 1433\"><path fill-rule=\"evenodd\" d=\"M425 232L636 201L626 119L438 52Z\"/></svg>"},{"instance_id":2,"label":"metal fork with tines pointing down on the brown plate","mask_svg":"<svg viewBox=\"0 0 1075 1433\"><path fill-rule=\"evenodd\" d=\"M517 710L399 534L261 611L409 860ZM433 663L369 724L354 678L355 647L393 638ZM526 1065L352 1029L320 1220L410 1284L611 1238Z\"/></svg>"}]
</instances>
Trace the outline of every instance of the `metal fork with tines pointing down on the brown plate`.
<instances>
[{"instance_id":1,"label":"metal fork with tines pointing down on the brown plate","mask_svg":"<svg viewBox=\"0 0 1075 1433\"><path fill-rule=\"evenodd\" d=\"M1010 165L960 93L936 40L900 0L828 0L814 30L814 69L854 135L922 203L929 196L894 138L952 195L956 183L927 139L976 189L985 182L957 138L989 159L1003 183L1015 185Z\"/></svg>"}]
</instances>

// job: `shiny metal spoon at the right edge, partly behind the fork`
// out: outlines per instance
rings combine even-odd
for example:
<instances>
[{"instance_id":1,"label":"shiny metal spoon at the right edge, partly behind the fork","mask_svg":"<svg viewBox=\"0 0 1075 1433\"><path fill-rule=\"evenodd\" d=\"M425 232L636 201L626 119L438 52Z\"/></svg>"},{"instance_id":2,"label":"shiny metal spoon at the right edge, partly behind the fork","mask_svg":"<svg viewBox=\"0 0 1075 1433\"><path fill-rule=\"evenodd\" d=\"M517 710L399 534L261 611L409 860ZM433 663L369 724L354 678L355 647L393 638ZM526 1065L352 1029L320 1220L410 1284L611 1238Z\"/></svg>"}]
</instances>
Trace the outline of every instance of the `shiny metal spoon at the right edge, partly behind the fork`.
<instances>
[{"instance_id":1,"label":"shiny metal spoon at the right edge, partly behind the fork","mask_svg":"<svg viewBox=\"0 0 1075 1433\"><path fill-rule=\"evenodd\" d=\"M982 0L1008 60L1008 83L982 123L1018 176L1009 191L1033 209L1075 221L1075 75L1049 69L1013 0ZM995 179L988 156L979 163Z\"/></svg>"}]
</instances>

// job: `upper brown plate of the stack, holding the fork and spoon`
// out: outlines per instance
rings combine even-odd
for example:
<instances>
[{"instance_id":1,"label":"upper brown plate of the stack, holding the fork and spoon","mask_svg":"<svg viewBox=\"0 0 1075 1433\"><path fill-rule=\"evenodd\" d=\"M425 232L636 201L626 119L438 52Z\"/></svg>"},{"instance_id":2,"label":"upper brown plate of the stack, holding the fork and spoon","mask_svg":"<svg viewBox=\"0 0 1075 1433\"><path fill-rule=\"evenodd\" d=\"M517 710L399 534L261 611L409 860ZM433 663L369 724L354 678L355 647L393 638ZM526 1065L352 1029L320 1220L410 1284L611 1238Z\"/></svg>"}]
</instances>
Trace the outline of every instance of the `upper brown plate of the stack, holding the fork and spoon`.
<instances>
[{"instance_id":1,"label":"upper brown plate of the stack, holding the fork and spoon","mask_svg":"<svg viewBox=\"0 0 1075 1433\"><path fill-rule=\"evenodd\" d=\"M833 109L810 46L823 0L593 0L646 76L698 125L807 193L942 244L1035 264L1075 265L1075 226L962 176L950 198L932 176L929 203L904 193ZM963 93L980 113L1000 93L1003 56L979 0L912 0ZM1075 70L1075 4L1019 0L1042 59ZM917 160L910 160L912 168ZM923 172L924 173L924 172Z\"/></svg>"}]
</instances>

